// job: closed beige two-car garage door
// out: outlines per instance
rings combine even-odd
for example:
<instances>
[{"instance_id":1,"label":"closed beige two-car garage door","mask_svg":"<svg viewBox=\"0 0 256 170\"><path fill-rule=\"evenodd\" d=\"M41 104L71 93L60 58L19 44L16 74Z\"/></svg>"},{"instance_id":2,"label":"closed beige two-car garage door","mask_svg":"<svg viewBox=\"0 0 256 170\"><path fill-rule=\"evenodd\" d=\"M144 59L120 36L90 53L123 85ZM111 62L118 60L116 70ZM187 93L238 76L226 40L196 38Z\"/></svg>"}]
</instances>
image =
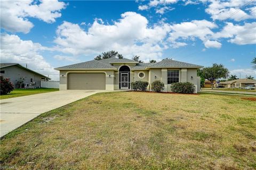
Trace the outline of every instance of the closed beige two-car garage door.
<instances>
[{"instance_id":1,"label":"closed beige two-car garage door","mask_svg":"<svg viewBox=\"0 0 256 170\"><path fill-rule=\"evenodd\" d=\"M67 88L73 90L105 90L105 73L69 73Z\"/></svg>"}]
</instances>

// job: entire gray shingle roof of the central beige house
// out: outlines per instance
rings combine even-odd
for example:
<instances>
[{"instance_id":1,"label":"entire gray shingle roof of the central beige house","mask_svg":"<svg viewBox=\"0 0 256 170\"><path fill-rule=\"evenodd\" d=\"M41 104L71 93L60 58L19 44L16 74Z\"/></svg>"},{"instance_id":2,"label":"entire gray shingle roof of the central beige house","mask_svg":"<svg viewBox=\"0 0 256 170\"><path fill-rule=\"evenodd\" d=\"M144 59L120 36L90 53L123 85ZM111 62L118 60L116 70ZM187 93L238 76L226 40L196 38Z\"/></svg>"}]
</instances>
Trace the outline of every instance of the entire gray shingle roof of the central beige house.
<instances>
[{"instance_id":1,"label":"entire gray shingle roof of the central beige house","mask_svg":"<svg viewBox=\"0 0 256 170\"><path fill-rule=\"evenodd\" d=\"M179 61L174 61L171 59L165 59L161 62L157 63L139 63L137 61L133 61L127 58L118 59L115 57L107 58L104 60L92 60L88 62L78 63L67 65L63 67L55 68L55 70L86 70L86 69L109 69L109 70L116 70L116 67L112 66L113 63L134 63L136 64L131 70L145 70L150 68L158 68L158 67L176 67L176 68L202 68L203 66L184 63Z\"/></svg>"}]
</instances>

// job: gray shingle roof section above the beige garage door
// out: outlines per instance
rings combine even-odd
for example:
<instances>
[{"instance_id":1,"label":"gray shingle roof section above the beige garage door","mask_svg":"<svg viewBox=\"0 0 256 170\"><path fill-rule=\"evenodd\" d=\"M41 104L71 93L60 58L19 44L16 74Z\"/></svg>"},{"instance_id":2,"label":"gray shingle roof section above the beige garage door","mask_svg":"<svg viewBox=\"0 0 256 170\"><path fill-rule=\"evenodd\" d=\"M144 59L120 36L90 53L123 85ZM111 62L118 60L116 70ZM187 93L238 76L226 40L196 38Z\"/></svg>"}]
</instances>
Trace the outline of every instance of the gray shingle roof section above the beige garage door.
<instances>
[{"instance_id":1,"label":"gray shingle roof section above the beige garage door","mask_svg":"<svg viewBox=\"0 0 256 170\"><path fill-rule=\"evenodd\" d=\"M63 70L63 69L116 69L111 66L111 64L106 64L97 60L87 61L83 63L77 63L72 65L67 65L63 67L55 68L55 70Z\"/></svg>"}]
</instances>

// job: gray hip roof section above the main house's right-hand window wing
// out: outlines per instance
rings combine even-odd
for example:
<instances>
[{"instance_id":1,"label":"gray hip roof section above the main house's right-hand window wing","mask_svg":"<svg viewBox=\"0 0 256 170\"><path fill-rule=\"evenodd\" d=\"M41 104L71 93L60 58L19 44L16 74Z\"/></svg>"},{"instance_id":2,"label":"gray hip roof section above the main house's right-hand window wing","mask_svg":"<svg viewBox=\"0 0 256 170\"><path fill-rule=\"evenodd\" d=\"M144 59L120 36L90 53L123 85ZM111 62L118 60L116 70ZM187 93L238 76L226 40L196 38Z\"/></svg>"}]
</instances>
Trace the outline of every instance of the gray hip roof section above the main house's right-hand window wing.
<instances>
[{"instance_id":1,"label":"gray hip roof section above the main house's right-hand window wing","mask_svg":"<svg viewBox=\"0 0 256 170\"><path fill-rule=\"evenodd\" d=\"M165 59L161 62L154 63L153 65L150 65L148 67L150 67L150 68L151 67L198 67L198 68L201 68L203 66L179 62L179 61L175 61L175 60L171 60L171 59Z\"/></svg>"}]
</instances>

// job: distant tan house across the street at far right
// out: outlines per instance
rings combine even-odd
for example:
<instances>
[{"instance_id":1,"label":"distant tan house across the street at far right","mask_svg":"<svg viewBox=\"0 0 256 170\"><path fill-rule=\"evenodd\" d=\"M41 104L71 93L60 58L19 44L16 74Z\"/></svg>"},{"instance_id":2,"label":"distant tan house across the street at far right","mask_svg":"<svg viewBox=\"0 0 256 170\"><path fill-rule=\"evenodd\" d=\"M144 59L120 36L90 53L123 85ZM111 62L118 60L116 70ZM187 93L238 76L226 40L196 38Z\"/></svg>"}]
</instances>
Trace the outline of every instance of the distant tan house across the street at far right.
<instances>
[{"instance_id":1,"label":"distant tan house across the street at far right","mask_svg":"<svg viewBox=\"0 0 256 170\"><path fill-rule=\"evenodd\" d=\"M224 86L225 88L244 88L247 85L254 85L255 80L253 79L237 79L230 81L221 81L219 84L217 82L214 83L215 87Z\"/></svg>"}]
</instances>

